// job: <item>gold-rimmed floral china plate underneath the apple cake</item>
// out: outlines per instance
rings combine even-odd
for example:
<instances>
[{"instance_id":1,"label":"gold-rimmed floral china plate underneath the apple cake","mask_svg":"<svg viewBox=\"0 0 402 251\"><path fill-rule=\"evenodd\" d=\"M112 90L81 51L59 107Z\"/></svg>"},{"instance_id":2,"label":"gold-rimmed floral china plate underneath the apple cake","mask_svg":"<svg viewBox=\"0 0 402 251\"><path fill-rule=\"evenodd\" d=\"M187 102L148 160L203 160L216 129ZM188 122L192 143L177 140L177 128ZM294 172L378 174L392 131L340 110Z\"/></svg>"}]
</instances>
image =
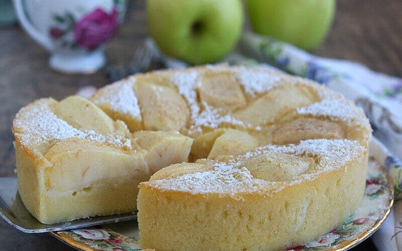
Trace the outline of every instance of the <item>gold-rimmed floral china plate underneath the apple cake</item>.
<instances>
[{"instance_id":1,"label":"gold-rimmed floral china plate underneath the apple cake","mask_svg":"<svg viewBox=\"0 0 402 251\"><path fill-rule=\"evenodd\" d=\"M392 180L382 164L386 149L371 141L366 189L359 208L332 231L299 246L295 250L346 250L374 233L388 216L393 204ZM388 159L388 158L387 158ZM82 250L142 250L137 221L125 221L95 227L50 232L57 239Z\"/></svg>"}]
</instances>

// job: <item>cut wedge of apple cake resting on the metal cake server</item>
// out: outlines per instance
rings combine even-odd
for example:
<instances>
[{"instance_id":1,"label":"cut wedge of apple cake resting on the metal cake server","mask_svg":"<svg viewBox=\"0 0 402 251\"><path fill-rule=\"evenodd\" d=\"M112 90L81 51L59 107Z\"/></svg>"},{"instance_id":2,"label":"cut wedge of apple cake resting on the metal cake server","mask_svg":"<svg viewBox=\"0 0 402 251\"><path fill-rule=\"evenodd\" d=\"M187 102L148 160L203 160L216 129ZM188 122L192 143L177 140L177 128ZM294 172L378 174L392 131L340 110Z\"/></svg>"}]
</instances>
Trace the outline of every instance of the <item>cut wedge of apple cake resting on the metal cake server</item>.
<instances>
[{"instance_id":1,"label":"cut wedge of apple cake resting on the metal cake server","mask_svg":"<svg viewBox=\"0 0 402 251\"><path fill-rule=\"evenodd\" d=\"M45 224L135 211L138 184L187 161L192 142L165 133L156 142L140 137L139 145L123 121L78 96L29 104L18 112L13 132L19 193ZM156 165L150 156L169 146L176 146L174 155L163 154Z\"/></svg>"}]
</instances>

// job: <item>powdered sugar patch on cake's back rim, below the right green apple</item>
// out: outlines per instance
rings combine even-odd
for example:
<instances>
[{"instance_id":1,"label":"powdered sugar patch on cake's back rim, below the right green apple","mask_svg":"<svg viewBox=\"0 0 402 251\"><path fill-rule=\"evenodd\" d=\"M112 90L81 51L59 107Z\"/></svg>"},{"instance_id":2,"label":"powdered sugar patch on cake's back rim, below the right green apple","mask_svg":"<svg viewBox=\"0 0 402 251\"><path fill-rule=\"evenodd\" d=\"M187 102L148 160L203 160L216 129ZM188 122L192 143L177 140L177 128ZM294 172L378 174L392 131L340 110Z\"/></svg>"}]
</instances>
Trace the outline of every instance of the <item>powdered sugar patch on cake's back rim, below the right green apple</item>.
<instances>
[{"instance_id":1,"label":"powdered sugar patch on cake's back rim, below the right green apple","mask_svg":"<svg viewBox=\"0 0 402 251\"><path fill-rule=\"evenodd\" d=\"M244 68L235 70L235 73L244 91L252 97L283 84L279 76L266 71L253 71Z\"/></svg>"}]
</instances>

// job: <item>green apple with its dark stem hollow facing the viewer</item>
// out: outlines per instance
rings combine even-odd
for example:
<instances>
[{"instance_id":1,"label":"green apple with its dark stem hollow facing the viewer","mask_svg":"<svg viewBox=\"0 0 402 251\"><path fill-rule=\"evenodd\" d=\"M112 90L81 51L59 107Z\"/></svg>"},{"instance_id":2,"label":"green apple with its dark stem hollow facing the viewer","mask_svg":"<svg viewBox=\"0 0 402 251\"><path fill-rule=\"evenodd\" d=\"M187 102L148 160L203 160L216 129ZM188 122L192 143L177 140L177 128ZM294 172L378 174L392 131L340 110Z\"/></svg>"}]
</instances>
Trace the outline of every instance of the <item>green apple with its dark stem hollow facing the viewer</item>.
<instances>
[{"instance_id":1,"label":"green apple with its dark stem hollow facing the viewer","mask_svg":"<svg viewBox=\"0 0 402 251\"><path fill-rule=\"evenodd\" d=\"M148 29L161 51L189 64L215 62L243 26L240 0L147 0Z\"/></svg>"}]
</instances>

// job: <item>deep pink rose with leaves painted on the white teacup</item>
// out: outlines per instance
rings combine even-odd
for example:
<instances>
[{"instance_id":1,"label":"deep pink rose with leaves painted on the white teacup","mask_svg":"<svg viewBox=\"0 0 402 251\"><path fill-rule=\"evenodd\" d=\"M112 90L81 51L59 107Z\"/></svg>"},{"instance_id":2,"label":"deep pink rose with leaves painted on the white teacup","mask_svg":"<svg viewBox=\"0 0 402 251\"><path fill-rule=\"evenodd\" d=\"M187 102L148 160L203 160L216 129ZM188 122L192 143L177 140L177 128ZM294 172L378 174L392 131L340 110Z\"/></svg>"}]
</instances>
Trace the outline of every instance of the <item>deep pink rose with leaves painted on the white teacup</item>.
<instances>
[{"instance_id":1,"label":"deep pink rose with leaves painted on the white teacup","mask_svg":"<svg viewBox=\"0 0 402 251\"><path fill-rule=\"evenodd\" d=\"M54 15L53 19L57 23L57 27L54 26L49 29L49 36L53 40L61 40L62 47L70 49L95 50L100 45L110 41L116 35L118 28L116 7L111 13L96 8L78 21L71 13L66 13L64 16ZM73 41L69 41L64 36L70 32L73 35Z\"/></svg>"}]
</instances>

